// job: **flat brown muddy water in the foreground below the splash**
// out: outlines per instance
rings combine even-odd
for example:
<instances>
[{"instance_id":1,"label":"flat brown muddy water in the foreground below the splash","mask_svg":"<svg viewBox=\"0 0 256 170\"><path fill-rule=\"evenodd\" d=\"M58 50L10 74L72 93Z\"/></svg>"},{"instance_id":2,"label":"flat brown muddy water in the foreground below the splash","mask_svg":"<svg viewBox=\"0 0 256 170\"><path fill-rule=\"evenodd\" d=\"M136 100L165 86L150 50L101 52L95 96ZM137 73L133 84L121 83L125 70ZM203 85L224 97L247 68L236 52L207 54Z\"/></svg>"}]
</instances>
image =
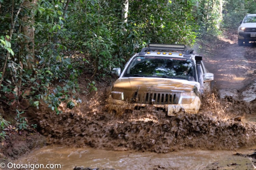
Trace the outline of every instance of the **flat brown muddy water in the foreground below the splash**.
<instances>
[{"instance_id":1,"label":"flat brown muddy water in the foreground below the splash","mask_svg":"<svg viewBox=\"0 0 256 170\"><path fill-rule=\"evenodd\" d=\"M159 154L154 152L107 151L93 148L47 146L19 159L17 164L61 164L61 169L77 167L113 169L253 169L248 157L253 149L237 151L183 150Z\"/></svg>"}]
</instances>

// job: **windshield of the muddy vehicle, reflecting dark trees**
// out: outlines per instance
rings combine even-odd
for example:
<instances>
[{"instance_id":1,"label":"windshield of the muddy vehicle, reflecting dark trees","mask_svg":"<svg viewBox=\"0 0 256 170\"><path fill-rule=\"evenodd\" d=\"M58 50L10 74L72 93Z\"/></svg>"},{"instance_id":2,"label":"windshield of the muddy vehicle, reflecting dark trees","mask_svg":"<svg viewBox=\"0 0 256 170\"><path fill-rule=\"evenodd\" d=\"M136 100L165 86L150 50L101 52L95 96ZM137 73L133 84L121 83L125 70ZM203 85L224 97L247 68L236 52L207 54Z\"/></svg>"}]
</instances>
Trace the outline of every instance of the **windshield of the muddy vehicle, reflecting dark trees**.
<instances>
[{"instance_id":1,"label":"windshield of the muddy vehicle, reflecting dark trees","mask_svg":"<svg viewBox=\"0 0 256 170\"><path fill-rule=\"evenodd\" d=\"M194 62L187 58L137 56L123 77L157 77L195 81Z\"/></svg>"}]
</instances>

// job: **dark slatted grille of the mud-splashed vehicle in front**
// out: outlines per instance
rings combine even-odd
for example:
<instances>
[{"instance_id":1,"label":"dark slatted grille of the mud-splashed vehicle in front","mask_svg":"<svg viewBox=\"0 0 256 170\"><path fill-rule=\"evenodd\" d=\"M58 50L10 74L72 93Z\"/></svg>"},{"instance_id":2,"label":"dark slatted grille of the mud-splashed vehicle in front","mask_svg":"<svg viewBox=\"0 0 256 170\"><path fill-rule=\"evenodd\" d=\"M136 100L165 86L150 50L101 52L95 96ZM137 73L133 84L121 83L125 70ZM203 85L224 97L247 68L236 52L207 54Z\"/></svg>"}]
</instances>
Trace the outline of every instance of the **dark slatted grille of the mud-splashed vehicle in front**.
<instances>
[{"instance_id":1,"label":"dark slatted grille of the mud-splashed vehicle in front","mask_svg":"<svg viewBox=\"0 0 256 170\"><path fill-rule=\"evenodd\" d=\"M134 92L133 102L141 104L177 104L179 102L180 93L175 92Z\"/></svg>"}]
</instances>

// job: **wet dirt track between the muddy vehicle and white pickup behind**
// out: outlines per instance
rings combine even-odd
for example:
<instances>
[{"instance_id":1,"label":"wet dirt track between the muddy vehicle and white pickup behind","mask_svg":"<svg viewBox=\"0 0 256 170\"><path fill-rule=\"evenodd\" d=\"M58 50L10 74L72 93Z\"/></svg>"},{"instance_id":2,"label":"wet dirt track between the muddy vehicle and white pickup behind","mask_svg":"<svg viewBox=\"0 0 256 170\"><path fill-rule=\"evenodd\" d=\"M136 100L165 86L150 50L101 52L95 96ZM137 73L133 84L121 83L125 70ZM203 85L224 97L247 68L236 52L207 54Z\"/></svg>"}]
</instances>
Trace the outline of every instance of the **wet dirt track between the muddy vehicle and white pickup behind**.
<instances>
[{"instance_id":1,"label":"wet dirt track between the muddy vehicle and white pickup behind","mask_svg":"<svg viewBox=\"0 0 256 170\"><path fill-rule=\"evenodd\" d=\"M214 73L221 98L232 96L247 102L254 100L256 96L252 93L247 95L245 87L250 88L255 79L256 44L239 47L237 36L232 33L226 33L213 44L202 45L201 52L206 59L205 65Z\"/></svg>"}]
</instances>

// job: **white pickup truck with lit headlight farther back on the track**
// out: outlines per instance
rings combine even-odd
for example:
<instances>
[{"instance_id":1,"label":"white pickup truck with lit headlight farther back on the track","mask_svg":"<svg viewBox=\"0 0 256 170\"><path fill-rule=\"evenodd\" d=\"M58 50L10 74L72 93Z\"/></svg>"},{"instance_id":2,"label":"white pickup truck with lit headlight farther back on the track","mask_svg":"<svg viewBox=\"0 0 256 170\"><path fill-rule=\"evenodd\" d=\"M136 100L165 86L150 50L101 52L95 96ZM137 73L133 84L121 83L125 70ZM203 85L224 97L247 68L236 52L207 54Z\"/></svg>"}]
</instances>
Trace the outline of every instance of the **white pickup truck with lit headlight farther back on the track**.
<instances>
[{"instance_id":1,"label":"white pickup truck with lit headlight farther back on the track","mask_svg":"<svg viewBox=\"0 0 256 170\"><path fill-rule=\"evenodd\" d=\"M250 41L256 41L256 14L246 15L238 27L238 45Z\"/></svg>"}]
</instances>

